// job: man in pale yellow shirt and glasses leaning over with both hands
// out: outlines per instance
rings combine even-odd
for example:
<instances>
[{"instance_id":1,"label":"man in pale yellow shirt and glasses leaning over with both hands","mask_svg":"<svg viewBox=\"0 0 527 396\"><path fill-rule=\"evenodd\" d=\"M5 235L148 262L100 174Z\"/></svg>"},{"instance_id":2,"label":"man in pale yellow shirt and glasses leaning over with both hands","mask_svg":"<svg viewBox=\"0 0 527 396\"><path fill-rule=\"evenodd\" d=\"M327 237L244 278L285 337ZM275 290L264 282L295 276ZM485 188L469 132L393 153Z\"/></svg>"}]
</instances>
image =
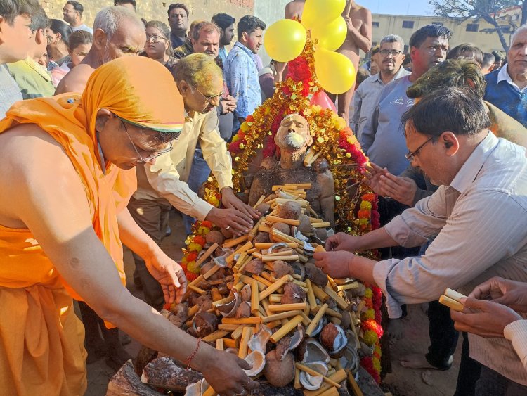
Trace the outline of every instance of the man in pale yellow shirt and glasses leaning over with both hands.
<instances>
[{"instance_id":1,"label":"man in pale yellow shirt and glasses leaning over with both hands","mask_svg":"<svg viewBox=\"0 0 527 396\"><path fill-rule=\"evenodd\" d=\"M259 213L233 192L230 153L219 134L215 109L223 94L221 69L212 57L194 53L176 63L173 75L185 105L183 132L174 142L174 150L160 155L154 164L137 167L138 189L129 203L131 215L157 243L165 235L172 206L187 216L184 217L187 234L194 219L209 220L233 236L247 233ZM195 154L198 145L203 155L200 161ZM200 179L201 172L195 172L195 167L202 163L208 172ZM214 207L196 194L210 170L218 181L224 209ZM134 276L141 281L146 302L160 309L163 294L159 283L148 273L141 257L134 255L134 259Z\"/></svg>"}]
</instances>

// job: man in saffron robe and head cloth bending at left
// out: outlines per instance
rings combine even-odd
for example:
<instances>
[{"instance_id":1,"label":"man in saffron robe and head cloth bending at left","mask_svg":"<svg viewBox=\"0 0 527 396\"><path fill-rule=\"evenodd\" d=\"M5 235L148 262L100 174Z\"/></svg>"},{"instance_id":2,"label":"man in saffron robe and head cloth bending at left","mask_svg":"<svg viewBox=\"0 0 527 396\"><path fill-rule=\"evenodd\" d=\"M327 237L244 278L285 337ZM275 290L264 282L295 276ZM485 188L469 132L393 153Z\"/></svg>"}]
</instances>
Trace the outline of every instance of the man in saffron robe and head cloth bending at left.
<instances>
[{"instance_id":1,"label":"man in saffron robe and head cloth bending at left","mask_svg":"<svg viewBox=\"0 0 527 396\"><path fill-rule=\"evenodd\" d=\"M136 189L134 167L155 163L182 127L183 101L169 71L142 57L100 66L82 96L15 103L0 122L6 395L84 394L84 329L72 296L144 345L190 359L219 393L257 386L242 371L249 364L199 343L122 285L124 243L145 259L167 302L185 291L181 267L126 210Z\"/></svg>"}]
</instances>

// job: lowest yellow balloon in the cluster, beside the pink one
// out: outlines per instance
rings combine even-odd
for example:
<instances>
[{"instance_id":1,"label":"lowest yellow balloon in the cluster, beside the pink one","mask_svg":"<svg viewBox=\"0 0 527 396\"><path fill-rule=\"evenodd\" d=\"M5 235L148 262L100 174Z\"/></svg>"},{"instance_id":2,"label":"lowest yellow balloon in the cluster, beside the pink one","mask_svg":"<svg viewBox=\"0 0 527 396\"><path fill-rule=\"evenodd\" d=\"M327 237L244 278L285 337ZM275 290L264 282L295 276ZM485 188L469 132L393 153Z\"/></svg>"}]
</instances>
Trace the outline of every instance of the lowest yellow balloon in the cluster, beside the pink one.
<instances>
[{"instance_id":1,"label":"lowest yellow balloon in the cluster, beside the pink one","mask_svg":"<svg viewBox=\"0 0 527 396\"><path fill-rule=\"evenodd\" d=\"M320 85L330 94L344 94L355 84L356 70L353 63L338 52L317 49L315 72Z\"/></svg>"}]
</instances>

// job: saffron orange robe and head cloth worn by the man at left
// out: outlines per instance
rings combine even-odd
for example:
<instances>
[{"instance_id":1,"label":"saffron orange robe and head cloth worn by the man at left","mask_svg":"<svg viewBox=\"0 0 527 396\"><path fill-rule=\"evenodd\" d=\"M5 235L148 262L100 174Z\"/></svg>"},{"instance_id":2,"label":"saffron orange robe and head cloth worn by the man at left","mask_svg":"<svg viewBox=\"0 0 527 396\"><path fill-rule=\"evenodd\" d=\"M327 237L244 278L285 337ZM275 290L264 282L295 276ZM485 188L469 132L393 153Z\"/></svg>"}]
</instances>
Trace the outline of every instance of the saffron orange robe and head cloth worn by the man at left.
<instances>
[{"instance_id":1,"label":"saffron orange robe and head cloth worn by the man at left","mask_svg":"<svg viewBox=\"0 0 527 396\"><path fill-rule=\"evenodd\" d=\"M183 127L183 101L168 70L148 58L124 57L93 72L82 97L15 103L0 122L0 133L17 124L37 124L63 146L84 185L93 229L124 284L117 213L136 190L136 173L111 164L101 167L95 131L100 108L148 129L179 132ZM80 298L30 230L0 226L0 383L6 394L86 390L84 329L63 286Z\"/></svg>"}]
</instances>

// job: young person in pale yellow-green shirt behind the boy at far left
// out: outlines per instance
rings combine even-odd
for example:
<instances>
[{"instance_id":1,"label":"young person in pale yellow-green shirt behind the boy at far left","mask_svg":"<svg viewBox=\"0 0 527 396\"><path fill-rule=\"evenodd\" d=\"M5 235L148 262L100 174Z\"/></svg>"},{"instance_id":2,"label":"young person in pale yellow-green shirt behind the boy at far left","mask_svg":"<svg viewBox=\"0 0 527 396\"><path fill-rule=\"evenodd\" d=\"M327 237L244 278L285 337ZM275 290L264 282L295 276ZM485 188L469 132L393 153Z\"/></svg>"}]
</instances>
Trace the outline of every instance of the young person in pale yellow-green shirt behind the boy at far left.
<instances>
[{"instance_id":1,"label":"young person in pale yellow-green shirt behind the boy at far left","mask_svg":"<svg viewBox=\"0 0 527 396\"><path fill-rule=\"evenodd\" d=\"M55 92L51 74L46 67L42 67L37 62L43 53L47 53L46 27L48 25L49 20L44 8L37 6L31 18L32 49L30 49L29 56L25 60L7 65L24 99L49 97Z\"/></svg>"}]
</instances>

